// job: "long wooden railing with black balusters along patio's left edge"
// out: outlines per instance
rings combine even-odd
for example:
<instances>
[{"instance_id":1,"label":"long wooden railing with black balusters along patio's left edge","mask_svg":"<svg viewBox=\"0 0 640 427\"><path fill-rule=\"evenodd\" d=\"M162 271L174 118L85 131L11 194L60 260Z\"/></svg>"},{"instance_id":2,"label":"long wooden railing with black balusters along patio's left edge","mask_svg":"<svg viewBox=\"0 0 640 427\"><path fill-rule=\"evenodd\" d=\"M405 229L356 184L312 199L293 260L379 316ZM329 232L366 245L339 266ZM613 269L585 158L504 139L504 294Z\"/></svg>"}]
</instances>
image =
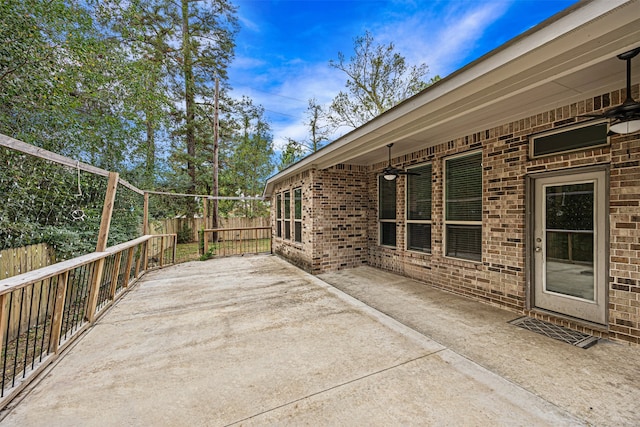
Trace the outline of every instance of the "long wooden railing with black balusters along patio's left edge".
<instances>
[{"instance_id":1,"label":"long wooden railing with black balusters along patio's left edge","mask_svg":"<svg viewBox=\"0 0 640 427\"><path fill-rule=\"evenodd\" d=\"M0 280L0 408L144 272L173 264L176 235L147 235L104 252Z\"/></svg>"}]
</instances>

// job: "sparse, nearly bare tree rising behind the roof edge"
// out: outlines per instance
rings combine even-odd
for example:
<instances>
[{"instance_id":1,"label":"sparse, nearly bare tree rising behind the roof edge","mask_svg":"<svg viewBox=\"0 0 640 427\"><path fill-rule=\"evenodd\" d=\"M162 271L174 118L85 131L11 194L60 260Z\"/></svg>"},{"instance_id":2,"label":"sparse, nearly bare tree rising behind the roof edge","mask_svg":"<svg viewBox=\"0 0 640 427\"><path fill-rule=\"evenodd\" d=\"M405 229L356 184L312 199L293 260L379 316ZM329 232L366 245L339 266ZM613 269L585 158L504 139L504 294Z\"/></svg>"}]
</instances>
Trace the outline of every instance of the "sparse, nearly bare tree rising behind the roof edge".
<instances>
[{"instance_id":1,"label":"sparse, nearly bare tree rising behind the roof edge","mask_svg":"<svg viewBox=\"0 0 640 427\"><path fill-rule=\"evenodd\" d=\"M337 61L329 61L329 66L347 74L346 92L338 93L331 103L336 127L359 127L440 79L424 81L426 64L408 66L393 43L376 45L368 31L355 38L354 51L349 61L342 52Z\"/></svg>"}]
</instances>

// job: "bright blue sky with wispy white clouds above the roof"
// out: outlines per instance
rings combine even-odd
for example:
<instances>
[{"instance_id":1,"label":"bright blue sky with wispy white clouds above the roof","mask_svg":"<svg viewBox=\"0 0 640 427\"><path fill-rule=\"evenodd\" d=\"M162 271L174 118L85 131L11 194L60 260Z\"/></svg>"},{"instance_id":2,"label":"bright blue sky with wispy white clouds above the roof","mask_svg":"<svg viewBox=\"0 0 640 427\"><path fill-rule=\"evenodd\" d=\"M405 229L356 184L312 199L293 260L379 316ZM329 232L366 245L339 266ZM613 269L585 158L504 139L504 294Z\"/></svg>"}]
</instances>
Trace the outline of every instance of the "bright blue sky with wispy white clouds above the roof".
<instances>
[{"instance_id":1,"label":"bright blue sky with wispy white clouds above the roof","mask_svg":"<svg viewBox=\"0 0 640 427\"><path fill-rule=\"evenodd\" d=\"M279 150L287 137L308 138L308 100L328 106L346 82L329 61L338 52L351 57L354 38L367 30L376 44L393 42L408 64L427 64L427 79L445 77L576 2L236 0L232 96L265 108Z\"/></svg>"}]
</instances>

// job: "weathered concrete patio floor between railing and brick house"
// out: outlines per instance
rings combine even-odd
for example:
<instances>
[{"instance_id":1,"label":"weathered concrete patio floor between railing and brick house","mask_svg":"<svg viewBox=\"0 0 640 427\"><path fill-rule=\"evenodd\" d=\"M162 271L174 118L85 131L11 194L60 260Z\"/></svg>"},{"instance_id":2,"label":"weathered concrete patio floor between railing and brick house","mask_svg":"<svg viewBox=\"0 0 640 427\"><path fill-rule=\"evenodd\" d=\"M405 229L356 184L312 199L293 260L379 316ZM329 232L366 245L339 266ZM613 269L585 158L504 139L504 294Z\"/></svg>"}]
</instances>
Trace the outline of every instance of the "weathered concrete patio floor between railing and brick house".
<instances>
[{"instance_id":1,"label":"weathered concrete patio floor between railing and brick house","mask_svg":"<svg viewBox=\"0 0 640 427\"><path fill-rule=\"evenodd\" d=\"M274 256L151 272L1 424L640 420L637 347L583 350L506 323L517 314L368 267L321 278Z\"/></svg>"}]
</instances>

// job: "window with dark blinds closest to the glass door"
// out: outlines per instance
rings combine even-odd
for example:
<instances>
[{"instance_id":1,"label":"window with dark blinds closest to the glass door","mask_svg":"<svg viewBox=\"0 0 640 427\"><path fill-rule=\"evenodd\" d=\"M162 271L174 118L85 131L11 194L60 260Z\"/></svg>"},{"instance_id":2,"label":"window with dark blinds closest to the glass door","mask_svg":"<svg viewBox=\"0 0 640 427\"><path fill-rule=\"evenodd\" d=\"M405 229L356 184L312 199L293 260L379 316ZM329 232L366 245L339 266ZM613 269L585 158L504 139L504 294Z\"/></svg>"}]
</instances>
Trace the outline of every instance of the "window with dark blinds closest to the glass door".
<instances>
[{"instance_id":1,"label":"window with dark blinds closest to the glass door","mask_svg":"<svg viewBox=\"0 0 640 427\"><path fill-rule=\"evenodd\" d=\"M482 260L482 153L445 160L445 254Z\"/></svg>"}]
</instances>

